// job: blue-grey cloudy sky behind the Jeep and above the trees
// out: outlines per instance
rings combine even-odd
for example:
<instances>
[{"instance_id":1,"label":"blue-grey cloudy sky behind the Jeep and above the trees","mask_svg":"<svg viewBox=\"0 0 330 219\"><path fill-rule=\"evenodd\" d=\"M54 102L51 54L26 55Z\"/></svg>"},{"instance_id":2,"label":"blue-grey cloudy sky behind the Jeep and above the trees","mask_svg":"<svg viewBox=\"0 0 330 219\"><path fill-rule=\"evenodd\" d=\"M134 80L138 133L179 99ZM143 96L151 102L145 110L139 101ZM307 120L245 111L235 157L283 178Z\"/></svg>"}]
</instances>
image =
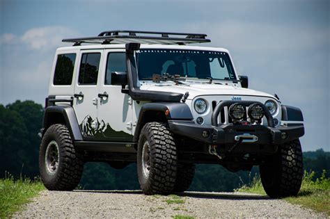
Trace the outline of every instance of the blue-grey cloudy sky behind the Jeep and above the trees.
<instances>
[{"instance_id":1,"label":"blue-grey cloudy sky behind the Jeep and above the trees","mask_svg":"<svg viewBox=\"0 0 330 219\"><path fill-rule=\"evenodd\" d=\"M301 108L304 151L329 146L330 1L0 0L0 104L44 104L63 38L132 29L206 33L249 88Z\"/></svg>"}]
</instances>

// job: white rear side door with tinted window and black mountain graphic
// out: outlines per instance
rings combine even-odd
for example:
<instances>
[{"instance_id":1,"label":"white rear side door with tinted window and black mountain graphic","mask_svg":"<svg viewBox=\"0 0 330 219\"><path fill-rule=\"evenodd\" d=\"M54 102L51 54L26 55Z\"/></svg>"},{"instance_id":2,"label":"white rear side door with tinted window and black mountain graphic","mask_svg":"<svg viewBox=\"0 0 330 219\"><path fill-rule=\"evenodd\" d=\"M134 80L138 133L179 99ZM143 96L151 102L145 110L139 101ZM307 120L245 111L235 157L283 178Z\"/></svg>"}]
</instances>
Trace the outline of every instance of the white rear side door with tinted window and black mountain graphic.
<instances>
[{"instance_id":1,"label":"white rear side door with tinted window and black mountain graphic","mask_svg":"<svg viewBox=\"0 0 330 219\"><path fill-rule=\"evenodd\" d=\"M100 122L97 120L98 91L97 81L102 60L102 50L81 51L79 72L74 87L74 111L85 138L100 135Z\"/></svg>"}]
</instances>

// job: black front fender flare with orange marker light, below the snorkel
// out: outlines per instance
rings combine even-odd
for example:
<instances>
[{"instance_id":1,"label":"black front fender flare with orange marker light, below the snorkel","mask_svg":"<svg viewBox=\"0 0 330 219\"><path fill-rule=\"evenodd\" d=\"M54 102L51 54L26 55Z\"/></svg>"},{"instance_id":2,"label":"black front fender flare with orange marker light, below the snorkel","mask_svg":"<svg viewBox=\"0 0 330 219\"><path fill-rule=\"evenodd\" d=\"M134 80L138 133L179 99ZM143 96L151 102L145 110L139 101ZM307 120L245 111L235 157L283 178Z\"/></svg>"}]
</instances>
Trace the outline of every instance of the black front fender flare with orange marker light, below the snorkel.
<instances>
[{"instance_id":1,"label":"black front fender flare with orange marker light, below the snorkel","mask_svg":"<svg viewBox=\"0 0 330 219\"><path fill-rule=\"evenodd\" d=\"M167 110L168 113L166 113ZM194 120L189 106L185 103L158 102L143 104L136 123L136 129L134 131L134 142L139 140L140 131L144 125L143 117L148 111L164 112L164 115L167 114L167 120Z\"/></svg>"}]
</instances>

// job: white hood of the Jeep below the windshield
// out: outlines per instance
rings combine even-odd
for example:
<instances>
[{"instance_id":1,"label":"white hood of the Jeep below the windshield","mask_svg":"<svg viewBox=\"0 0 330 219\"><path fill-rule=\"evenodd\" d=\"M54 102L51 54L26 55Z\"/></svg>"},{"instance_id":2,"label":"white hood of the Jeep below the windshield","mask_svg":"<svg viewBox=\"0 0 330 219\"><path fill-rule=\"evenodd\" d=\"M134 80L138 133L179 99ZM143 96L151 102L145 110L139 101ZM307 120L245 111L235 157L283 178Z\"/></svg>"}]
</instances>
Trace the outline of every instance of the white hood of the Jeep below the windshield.
<instances>
[{"instance_id":1,"label":"white hood of the Jeep below the windshield","mask_svg":"<svg viewBox=\"0 0 330 219\"><path fill-rule=\"evenodd\" d=\"M194 99L197 96L202 95L233 95L233 96L258 96L258 97L270 97L265 92L260 92L257 90L251 90L247 88L238 88L231 85L220 85L220 84L189 84L189 85L174 85L171 83L152 83L143 84L140 88L141 90L153 90L153 91L163 91L163 92L177 92L184 94L189 92L188 99Z\"/></svg>"}]
</instances>

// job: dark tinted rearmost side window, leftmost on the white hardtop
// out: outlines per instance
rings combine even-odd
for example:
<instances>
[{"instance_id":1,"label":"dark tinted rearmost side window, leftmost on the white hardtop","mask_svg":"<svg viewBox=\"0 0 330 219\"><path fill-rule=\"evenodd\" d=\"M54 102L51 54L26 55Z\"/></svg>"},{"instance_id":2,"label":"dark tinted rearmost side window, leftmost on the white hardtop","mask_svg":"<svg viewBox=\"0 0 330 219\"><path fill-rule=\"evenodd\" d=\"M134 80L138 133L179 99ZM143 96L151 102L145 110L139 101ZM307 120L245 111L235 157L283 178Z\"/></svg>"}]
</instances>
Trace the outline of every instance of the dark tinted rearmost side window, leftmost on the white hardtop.
<instances>
[{"instance_id":1,"label":"dark tinted rearmost side window, leftmost on the white hardtop","mask_svg":"<svg viewBox=\"0 0 330 219\"><path fill-rule=\"evenodd\" d=\"M54 73L54 85L71 85L76 54L61 54L57 56Z\"/></svg>"}]
</instances>

